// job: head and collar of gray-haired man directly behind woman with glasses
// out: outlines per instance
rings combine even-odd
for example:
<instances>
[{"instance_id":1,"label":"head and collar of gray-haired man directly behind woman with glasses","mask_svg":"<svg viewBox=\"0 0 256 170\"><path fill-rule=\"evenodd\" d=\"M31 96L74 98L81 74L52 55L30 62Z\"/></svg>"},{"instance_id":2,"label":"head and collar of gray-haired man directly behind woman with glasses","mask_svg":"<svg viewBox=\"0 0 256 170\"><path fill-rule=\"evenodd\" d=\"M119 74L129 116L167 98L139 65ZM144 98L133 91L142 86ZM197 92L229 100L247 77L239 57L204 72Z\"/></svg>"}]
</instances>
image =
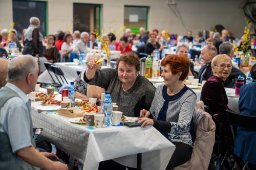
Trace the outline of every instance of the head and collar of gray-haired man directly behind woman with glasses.
<instances>
[{"instance_id":1,"label":"head and collar of gray-haired man directly behind woman with glasses","mask_svg":"<svg viewBox=\"0 0 256 170\"><path fill-rule=\"evenodd\" d=\"M228 57L232 58L234 57L234 47L231 42L224 42L220 45L220 54L226 54ZM234 68L239 69L238 63L234 62L232 60L232 65Z\"/></svg>"}]
</instances>

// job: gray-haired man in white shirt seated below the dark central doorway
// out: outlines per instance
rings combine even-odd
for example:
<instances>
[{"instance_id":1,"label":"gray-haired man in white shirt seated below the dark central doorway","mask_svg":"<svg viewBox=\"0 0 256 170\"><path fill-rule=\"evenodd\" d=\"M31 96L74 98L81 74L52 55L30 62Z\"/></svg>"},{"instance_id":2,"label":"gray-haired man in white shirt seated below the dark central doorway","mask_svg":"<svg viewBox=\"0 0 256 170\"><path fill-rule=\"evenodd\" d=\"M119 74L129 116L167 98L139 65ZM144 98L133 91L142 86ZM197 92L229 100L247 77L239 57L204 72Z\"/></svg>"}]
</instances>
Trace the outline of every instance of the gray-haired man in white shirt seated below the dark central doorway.
<instances>
[{"instance_id":1,"label":"gray-haired man in white shirt seated below the dark central doorway","mask_svg":"<svg viewBox=\"0 0 256 170\"><path fill-rule=\"evenodd\" d=\"M88 50L87 50L88 43L89 43L88 32L82 32L80 41L78 41L74 44L75 54L79 55L80 52L87 53L88 52Z\"/></svg>"}]
</instances>

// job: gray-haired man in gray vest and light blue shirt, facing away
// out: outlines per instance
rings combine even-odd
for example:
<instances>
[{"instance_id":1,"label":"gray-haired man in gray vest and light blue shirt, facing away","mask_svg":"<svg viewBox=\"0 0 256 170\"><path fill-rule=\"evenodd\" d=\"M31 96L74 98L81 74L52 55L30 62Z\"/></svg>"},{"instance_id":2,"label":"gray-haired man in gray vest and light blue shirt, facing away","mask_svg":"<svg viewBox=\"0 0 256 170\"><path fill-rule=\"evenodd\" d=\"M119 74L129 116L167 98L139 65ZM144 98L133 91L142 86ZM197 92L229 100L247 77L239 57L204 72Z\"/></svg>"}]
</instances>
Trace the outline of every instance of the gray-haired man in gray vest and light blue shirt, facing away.
<instances>
[{"instance_id":1,"label":"gray-haired man in gray vest and light blue shirt, facing away","mask_svg":"<svg viewBox=\"0 0 256 170\"><path fill-rule=\"evenodd\" d=\"M8 65L7 84L0 89L0 169L68 169L51 161L55 154L35 149L31 101L38 64L32 56L16 57Z\"/></svg>"}]
</instances>

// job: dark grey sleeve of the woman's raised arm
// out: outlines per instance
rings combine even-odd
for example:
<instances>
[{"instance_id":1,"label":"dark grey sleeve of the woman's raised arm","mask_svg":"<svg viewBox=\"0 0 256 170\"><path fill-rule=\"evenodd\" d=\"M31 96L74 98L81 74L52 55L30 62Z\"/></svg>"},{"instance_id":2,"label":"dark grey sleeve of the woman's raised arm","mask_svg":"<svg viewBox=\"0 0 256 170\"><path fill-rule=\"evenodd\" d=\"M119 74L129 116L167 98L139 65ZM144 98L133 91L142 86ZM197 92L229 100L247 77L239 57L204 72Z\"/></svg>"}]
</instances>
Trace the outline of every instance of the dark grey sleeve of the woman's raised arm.
<instances>
[{"instance_id":1,"label":"dark grey sleeve of the woman's raised arm","mask_svg":"<svg viewBox=\"0 0 256 170\"><path fill-rule=\"evenodd\" d=\"M114 68L97 69L96 74L92 80L88 80L86 77L86 73L84 72L83 80L90 85L96 85L107 90L111 79L116 74L117 72Z\"/></svg>"}]
</instances>

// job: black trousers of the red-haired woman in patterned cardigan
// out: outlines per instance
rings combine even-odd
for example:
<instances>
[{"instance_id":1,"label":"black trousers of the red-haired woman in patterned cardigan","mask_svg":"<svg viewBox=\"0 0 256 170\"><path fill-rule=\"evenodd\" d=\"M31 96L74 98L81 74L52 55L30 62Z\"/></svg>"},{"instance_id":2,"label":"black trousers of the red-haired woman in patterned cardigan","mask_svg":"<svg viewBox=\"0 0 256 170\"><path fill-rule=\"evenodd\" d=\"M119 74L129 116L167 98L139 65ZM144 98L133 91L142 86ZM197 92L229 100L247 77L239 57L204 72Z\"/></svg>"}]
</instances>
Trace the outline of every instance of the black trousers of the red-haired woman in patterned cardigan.
<instances>
[{"instance_id":1,"label":"black trousers of the red-haired woman in patterned cardigan","mask_svg":"<svg viewBox=\"0 0 256 170\"><path fill-rule=\"evenodd\" d=\"M166 170L170 170L176 166L187 162L191 158L191 154L193 151L193 148L190 147L188 144L182 142L173 142L173 144L175 145L176 149L172 158L170 158Z\"/></svg>"}]
</instances>

